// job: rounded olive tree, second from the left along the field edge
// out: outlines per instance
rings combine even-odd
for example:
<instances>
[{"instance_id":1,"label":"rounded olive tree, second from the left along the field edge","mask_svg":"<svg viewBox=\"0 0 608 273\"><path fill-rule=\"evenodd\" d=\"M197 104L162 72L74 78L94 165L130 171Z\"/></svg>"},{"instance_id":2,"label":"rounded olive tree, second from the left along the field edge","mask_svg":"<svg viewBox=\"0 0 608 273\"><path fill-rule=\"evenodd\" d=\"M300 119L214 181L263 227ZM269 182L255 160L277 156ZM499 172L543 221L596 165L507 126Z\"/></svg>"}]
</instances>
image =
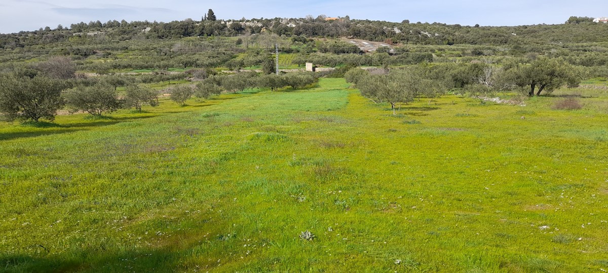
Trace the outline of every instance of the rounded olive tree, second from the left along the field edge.
<instances>
[{"instance_id":1,"label":"rounded olive tree, second from the left along the field edge","mask_svg":"<svg viewBox=\"0 0 608 273\"><path fill-rule=\"evenodd\" d=\"M114 87L103 82L67 90L63 98L74 112L84 111L96 116L114 112L122 106Z\"/></svg>"}]
</instances>

